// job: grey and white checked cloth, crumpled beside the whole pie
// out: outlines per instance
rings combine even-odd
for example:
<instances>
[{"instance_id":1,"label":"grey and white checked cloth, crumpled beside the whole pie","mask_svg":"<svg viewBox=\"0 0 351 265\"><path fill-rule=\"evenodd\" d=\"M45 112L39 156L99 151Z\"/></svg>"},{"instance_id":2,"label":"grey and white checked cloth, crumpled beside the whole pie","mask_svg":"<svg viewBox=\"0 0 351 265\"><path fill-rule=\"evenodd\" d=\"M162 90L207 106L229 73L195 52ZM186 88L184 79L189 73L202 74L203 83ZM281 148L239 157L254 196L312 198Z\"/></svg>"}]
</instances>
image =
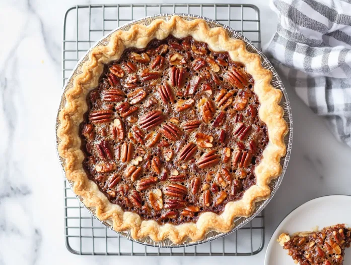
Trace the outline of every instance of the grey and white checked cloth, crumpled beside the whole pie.
<instances>
[{"instance_id":1,"label":"grey and white checked cloth, crumpled beside the whole pie","mask_svg":"<svg viewBox=\"0 0 351 265\"><path fill-rule=\"evenodd\" d=\"M351 1L272 0L270 6L279 22L265 54L351 146Z\"/></svg>"}]
</instances>

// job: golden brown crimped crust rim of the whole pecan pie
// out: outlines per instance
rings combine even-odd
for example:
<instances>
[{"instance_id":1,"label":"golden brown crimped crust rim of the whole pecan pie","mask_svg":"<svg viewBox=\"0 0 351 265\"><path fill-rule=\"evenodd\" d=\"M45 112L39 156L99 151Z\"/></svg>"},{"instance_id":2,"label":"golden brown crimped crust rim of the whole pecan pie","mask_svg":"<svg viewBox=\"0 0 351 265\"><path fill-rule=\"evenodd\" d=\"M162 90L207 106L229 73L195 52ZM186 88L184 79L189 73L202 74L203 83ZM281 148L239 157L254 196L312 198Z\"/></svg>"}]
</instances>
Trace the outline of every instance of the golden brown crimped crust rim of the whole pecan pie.
<instances>
[{"instance_id":1,"label":"golden brown crimped crust rim of the whole pecan pie","mask_svg":"<svg viewBox=\"0 0 351 265\"><path fill-rule=\"evenodd\" d=\"M156 221L143 221L139 215L123 211L120 206L110 203L98 186L88 179L83 169L84 153L80 149L79 136L79 125L83 121L83 114L88 110L86 96L98 85L103 65L118 60L127 47L144 48L150 40L164 39L170 34L177 38L191 35L197 41L206 42L214 51L228 51L233 61L246 66L247 72L255 80L254 92L261 104L259 118L267 125L269 135L263 159L255 168L256 185L251 186L242 199L227 203L221 215L202 213L196 223L181 225L159 225ZM91 50L89 60L83 64L81 71L74 79L74 86L65 93L66 103L59 113L58 150L65 161L66 178L74 182L74 192L84 199L88 207L96 207L96 216L100 220L112 220L114 230L130 230L134 239L150 236L154 241L161 241L169 238L179 244L189 237L197 241L209 231L231 230L234 218L250 216L255 202L269 197L268 183L282 171L280 158L286 153L284 136L288 132L288 126L283 119L284 111L278 105L282 92L270 85L271 72L261 66L258 55L246 50L242 40L231 39L223 28L210 29L202 19L185 21L173 16L169 21L158 19L148 26L133 25L128 31L114 32L107 46L97 46Z\"/></svg>"}]
</instances>

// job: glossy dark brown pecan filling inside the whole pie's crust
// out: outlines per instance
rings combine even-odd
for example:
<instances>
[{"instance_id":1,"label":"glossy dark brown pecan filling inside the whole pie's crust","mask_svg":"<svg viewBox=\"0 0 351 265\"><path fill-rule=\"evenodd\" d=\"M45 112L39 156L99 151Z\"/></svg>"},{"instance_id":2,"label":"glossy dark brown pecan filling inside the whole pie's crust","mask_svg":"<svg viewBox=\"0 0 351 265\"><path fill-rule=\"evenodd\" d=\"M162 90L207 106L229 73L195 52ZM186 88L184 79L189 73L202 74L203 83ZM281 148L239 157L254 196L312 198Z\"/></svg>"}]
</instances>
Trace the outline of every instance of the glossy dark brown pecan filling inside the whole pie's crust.
<instances>
[{"instance_id":1,"label":"glossy dark brown pecan filling inside the whole pie's crust","mask_svg":"<svg viewBox=\"0 0 351 265\"><path fill-rule=\"evenodd\" d=\"M89 178L145 220L220 214L255 184L268 142L253 85L244 65L191 37L124 50L87 98Z\"/></svg>"}]
</instances>

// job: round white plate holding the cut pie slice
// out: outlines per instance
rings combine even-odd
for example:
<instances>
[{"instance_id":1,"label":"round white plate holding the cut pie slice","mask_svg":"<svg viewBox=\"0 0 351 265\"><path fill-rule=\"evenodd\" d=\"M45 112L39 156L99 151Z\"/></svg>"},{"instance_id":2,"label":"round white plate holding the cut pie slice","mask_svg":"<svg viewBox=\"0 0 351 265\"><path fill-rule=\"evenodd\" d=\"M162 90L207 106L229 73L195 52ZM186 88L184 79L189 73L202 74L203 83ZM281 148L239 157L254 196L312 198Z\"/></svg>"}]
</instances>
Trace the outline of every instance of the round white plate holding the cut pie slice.
<instances>
[{"instance_id":1,"label":"round white plate holding the cut pie slice","mask_svg":"<svg viewBox=\"0 0 351 265\"><path fill-rule=\"evenodd\" d=\"M351 226L351 196L331 195L310 200L293 210L279 224L269 241L265 265L296 265L288 251L276 242L282 233L311 231L318 226L346 224ZM351 248L346 248L344 265L351 265Z\"/></svg>"}]
</instances>

